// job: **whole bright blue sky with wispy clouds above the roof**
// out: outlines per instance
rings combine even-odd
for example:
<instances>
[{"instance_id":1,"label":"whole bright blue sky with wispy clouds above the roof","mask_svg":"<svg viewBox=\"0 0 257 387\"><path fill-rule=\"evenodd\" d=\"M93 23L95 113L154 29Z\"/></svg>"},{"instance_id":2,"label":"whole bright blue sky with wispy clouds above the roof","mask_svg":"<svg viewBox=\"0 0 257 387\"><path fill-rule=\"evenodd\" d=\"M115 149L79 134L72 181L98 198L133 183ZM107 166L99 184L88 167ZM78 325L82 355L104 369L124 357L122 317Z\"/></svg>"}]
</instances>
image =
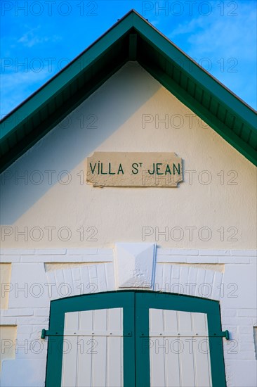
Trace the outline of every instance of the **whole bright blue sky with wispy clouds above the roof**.
<instances>
[{"instance_id":1,"label":"whole bright blue sky with wispy clouds above the roof","mask_svg":"<svg viewBox=\"0 0 257 387\"><path fill-rule=\"evenodd\" d=\"M1 1L1 118L131 8L256 108L256 1Z\"/></svg>"}]
</instances>

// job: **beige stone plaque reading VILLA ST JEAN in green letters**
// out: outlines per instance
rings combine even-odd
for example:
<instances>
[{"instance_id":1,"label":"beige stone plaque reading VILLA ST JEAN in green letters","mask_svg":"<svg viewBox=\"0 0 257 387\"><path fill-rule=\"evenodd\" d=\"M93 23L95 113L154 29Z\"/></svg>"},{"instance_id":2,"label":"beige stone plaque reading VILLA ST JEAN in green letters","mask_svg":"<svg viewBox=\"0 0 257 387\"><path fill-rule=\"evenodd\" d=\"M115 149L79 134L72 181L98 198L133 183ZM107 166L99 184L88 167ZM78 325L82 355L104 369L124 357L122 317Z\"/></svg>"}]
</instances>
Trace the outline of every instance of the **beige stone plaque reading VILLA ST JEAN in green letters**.
<instances>
[{"instance_id":1,"label":"beige stone plaque reading VILLA ST JEAN in green letters","mask_svg":"<svg viewBox=\"0 0 257 387\"><path fill-rule=\"evenodd\" d=\"M183 182L175 153L94 152L87 158L86 182L93 186L176 187Z\"/></svg>"}]
</instances>

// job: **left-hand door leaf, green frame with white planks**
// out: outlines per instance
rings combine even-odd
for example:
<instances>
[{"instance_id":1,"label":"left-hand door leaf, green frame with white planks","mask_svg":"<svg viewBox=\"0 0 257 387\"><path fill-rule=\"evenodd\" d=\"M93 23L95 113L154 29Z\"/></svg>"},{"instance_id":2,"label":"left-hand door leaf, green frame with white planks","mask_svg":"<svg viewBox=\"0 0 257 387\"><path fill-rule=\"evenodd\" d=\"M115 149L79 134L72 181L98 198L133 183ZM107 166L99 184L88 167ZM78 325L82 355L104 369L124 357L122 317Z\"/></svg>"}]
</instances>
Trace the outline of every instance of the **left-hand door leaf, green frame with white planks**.
<instances>
[{"instance_id":1,"label":"left-hand door leaf, green frame with white planks","mask_svg":"<svg viewBox=\"0 0 257 387\"><path fill-rule=\"evenodd\" d=\"M46 387L135 387L134 301L116 291L52 301Z\"/></svg>"}]
</instances>

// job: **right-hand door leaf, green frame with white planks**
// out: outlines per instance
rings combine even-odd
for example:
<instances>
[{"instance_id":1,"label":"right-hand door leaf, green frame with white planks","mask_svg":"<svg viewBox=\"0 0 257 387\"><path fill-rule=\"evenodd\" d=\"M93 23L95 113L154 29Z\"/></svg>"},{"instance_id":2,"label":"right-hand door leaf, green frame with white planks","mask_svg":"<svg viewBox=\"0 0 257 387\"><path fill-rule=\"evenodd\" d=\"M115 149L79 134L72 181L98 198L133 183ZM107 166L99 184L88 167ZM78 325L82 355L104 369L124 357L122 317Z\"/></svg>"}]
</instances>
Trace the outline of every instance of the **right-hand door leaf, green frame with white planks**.
<instances>
[{"instance_id":1,"label":"right-hand door leaf, green frame with white planks","mask_svg":"<svg viewBox=\"0 0 257 387\"><path fill-rule=\"evenodd\" d=\"M137 386L226 386L218 302L138 292L135 316Z\"/></svg>"}]
</instances>

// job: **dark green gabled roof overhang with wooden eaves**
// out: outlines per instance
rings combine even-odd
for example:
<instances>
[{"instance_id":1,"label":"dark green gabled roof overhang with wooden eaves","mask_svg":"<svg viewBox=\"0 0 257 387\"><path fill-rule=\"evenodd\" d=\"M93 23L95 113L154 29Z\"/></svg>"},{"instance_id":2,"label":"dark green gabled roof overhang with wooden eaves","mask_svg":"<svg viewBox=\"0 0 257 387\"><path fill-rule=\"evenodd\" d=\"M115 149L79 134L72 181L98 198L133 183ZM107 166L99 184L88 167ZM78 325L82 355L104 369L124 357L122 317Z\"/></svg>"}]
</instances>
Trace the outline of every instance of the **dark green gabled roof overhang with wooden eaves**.
<instances>
[{"instance_id":1,"label":"dark green gabled roof overhang with wooden eaves","mask_svg":"<svg viewBox=\"0 0 257 387\"><path fill-rule=\"evenodd\" d=\"M138 61L257 165L255 110L131 10L1 121L0 171L44 137L127 61Z\"/></svg>"}]
</instances>

